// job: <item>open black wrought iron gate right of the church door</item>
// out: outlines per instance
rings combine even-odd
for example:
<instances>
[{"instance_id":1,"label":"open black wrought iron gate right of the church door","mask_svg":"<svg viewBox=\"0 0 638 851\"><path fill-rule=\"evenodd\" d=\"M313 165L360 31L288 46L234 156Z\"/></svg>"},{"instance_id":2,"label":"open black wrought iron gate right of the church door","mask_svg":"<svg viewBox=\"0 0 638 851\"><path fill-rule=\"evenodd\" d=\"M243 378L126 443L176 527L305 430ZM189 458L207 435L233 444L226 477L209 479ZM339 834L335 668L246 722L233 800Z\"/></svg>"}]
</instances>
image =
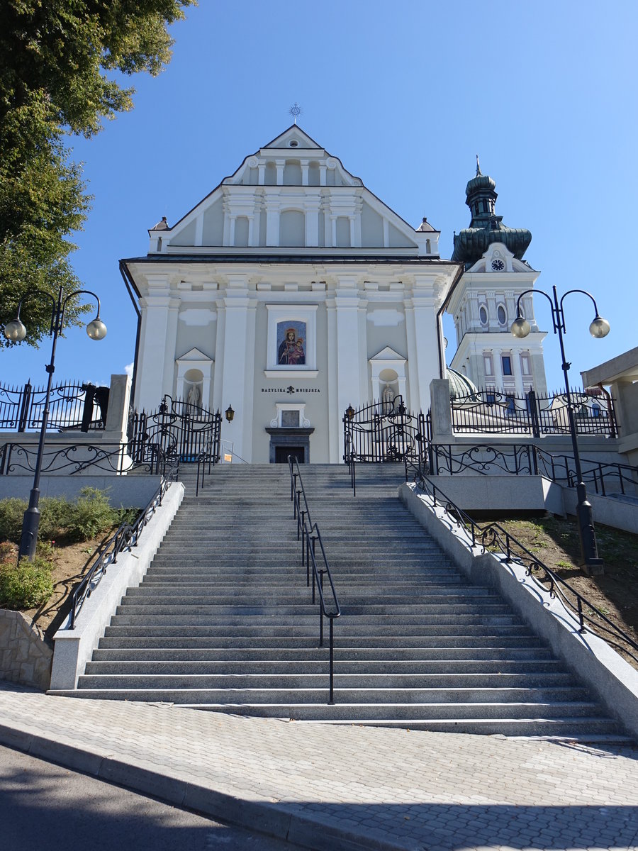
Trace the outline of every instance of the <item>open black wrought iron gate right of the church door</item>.
<instances>
[{"instance_id":1,"label":"open black wrought iron gate right of the church door","mask_svg":"<svg viewBox=\"0 0 638 851\"><path fill-rule=\"evenodd\" d=\"M422 411L407 411L403 397L375 402L344 414L344 460L412 461L424 465L427 452L427 420Z\"/></svg>"}]
</instances>

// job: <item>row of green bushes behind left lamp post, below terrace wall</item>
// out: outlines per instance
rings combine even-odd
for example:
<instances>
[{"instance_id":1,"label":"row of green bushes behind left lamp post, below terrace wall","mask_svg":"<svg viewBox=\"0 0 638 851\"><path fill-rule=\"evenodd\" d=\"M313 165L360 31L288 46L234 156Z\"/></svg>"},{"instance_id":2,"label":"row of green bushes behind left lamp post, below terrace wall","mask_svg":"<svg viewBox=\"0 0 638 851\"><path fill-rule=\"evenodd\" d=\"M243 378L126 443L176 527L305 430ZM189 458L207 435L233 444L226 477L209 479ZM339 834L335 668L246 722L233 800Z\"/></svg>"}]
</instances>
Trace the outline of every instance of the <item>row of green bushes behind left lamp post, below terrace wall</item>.
<instances>
[{"instance_id":1,"label":"row of green bushes behind left lamp post, below terrace wall","mask_svg":"<svg viewBox=\"0 0 638 851\"><path fill-rule=\"evenodd\" d=\"M40 542L66 538L81 541L95 538L102 532L126 521L134 523L140 513L135 508L113 508L105 491L83 488L75 502L65 497L43 497L40 500ZM20 542L25 500L0 500L0 540Z\"/></svg>"}]
</instances>

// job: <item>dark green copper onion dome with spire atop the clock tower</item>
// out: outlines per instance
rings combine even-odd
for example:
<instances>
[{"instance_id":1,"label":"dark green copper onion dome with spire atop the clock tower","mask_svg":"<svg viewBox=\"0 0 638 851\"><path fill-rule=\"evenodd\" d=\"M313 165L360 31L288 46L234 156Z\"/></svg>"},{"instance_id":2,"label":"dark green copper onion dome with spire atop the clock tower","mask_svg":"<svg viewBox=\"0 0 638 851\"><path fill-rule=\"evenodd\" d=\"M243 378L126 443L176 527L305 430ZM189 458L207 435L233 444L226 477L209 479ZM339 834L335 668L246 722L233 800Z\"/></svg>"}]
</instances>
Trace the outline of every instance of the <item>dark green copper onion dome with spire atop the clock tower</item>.
<instances>
[{"instance_id":1,"label":"dark green copper onion dome with spire atop the clock tower","mask_svg":"<svg viewBox=\"0 0 638 851\"><path fill-rule=\"evenodd\" d=\"M496 183L487 174L481 174L481 166L476 157L476 176L468 180L465 187L465 203L470 208L472 218L470 227L454 234L452 260L473 266L480 260L492 243L503 243L517 260L522 260L532 234L525 228L508 227L503 224L503 216L496 215L494 208L498 194Z\"/></svg>"}]
</instances>

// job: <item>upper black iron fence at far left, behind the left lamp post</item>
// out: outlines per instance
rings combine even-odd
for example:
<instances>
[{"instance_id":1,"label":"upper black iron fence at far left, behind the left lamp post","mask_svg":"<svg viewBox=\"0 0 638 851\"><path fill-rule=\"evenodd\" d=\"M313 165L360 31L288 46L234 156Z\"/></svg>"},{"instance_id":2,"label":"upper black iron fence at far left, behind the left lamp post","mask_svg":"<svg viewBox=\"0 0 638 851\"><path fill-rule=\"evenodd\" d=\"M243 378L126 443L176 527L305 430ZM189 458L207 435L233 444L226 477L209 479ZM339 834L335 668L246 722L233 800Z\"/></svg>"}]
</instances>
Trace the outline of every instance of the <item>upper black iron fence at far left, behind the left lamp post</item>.
<instances>
[{"instance_id":1,"label":"upper black iron fence at far left, behind the left lamp post","mask_svg":"<svg viewBox=\"0 0 638 851\"><path fill-rule=\"evenodd\" d=\"M42 427L46 387L0 386L0 430L37 431ZM48 407L49 430L93 431L103 429L109 404L109 388L71 383L52 387Z\"/></svg>"}]
</instances>

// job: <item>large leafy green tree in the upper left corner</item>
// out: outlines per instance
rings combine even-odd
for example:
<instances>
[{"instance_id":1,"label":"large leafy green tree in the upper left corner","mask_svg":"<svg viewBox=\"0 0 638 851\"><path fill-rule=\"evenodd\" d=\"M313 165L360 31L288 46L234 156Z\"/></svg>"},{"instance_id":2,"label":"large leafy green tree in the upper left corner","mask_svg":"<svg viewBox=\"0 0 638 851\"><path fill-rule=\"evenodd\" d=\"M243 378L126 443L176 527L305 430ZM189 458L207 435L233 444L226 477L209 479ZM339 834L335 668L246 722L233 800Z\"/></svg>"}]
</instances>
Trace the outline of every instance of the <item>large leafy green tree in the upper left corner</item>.
<instances>
[{"instance_id":1,"label":"large leafy green tree in the upper left corner","mask_svg":"<svg viewBox=\"0 0 638 851\"><path fill-rule=\"evenodd\" d=\"M69 134L90 137L132 108L116 77L157 75L171 57L167 26L195 0L3 0L0 9L0 324L26 289L81 288L68 237L91 198L71 163ZM67 321L80 322L79 300ZM25 309L28 340L48 333L43 300ZM12 345L0 337L0 346Z\"/></svg>"}]
</instances>

